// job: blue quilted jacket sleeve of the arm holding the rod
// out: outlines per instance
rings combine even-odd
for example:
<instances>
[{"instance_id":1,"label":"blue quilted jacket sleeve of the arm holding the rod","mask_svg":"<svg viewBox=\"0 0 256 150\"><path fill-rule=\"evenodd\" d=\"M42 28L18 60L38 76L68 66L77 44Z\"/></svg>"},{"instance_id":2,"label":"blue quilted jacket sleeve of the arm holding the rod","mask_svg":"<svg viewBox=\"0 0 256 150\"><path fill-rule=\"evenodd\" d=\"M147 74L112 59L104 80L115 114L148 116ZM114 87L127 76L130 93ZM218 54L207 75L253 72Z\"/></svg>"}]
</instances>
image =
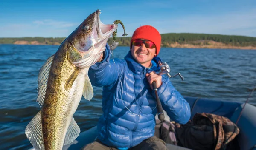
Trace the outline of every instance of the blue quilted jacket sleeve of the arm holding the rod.
<instances>
[{"instance_id":1,"label":"blue quilted jacket sleeve of the arm holding the rod","mask_svg":"<svg viewBox=\"0 0 256 150\"><path fill-rule=\"evenodd\" d=\"M189 103L183 98L180 92L174 88L167 76L162 77L162 85L158 88L157 93L163 109L167 112L172 121L186 124L191 116Z\"/></svg>"}]
</instances>

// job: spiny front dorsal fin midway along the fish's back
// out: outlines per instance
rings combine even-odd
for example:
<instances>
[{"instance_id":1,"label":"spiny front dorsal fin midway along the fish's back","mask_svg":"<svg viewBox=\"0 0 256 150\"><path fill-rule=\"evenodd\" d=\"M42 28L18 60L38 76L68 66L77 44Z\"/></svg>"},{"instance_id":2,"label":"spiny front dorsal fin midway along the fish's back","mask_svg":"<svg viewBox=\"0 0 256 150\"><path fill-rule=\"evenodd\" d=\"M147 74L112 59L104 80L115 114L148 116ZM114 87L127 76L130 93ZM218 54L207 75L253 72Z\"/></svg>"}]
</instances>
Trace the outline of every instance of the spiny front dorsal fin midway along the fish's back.
<instances>
[{"instance_id":1,"label":"spiny front dorsal fin midway along the fish's back","mask_svg":"<svg viewBox=\"0 0 256 150\"><path fill-rule=\"evenodd\" d=\"M40 107L44 104L47 81L48 81L49 71L52 65L53 57L54 55L52 55L47 59L44 65L40 68L40 71L38 74L38 98L36 101L38 102Z\"/></svg>"}]
</instances>

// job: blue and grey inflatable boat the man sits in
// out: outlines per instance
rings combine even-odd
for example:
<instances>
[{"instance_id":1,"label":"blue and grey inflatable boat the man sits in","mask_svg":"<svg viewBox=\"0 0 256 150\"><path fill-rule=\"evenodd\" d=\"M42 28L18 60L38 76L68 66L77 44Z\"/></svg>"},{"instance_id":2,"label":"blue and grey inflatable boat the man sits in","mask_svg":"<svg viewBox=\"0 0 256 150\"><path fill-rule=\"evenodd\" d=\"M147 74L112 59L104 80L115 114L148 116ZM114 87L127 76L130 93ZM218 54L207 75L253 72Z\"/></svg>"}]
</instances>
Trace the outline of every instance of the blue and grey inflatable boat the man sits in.
<instances>
[{"instance_id":1,"label":"blue and grey inflatable boat the man sits in","mask_svg":"<svg viewBox=\"0 0 256 150\"><path fill-rule=\"evenodd\" d=\"M191 108L191 118L195 113L213 113L219 116L229 118L236 123L241 110L244 106L242 102L222 101L215 99L206 99L200 97L184 97L189 102ZM157 116L156 116L156 119ZM170 121L170 118L165 112L165 120ZM240 133L236 139L240 150L256 150L256 107L246 104L241 114L237 126ZM65 145L63 150L80 150L86 144L93 142L97 136L97 127L92 127L86 130L76 138L72 143ZM169 150L190 150L188 148L179 147L176 145L167 144ZM29 150L35 150L33 148Z\"/></svg>"}]
</instances>

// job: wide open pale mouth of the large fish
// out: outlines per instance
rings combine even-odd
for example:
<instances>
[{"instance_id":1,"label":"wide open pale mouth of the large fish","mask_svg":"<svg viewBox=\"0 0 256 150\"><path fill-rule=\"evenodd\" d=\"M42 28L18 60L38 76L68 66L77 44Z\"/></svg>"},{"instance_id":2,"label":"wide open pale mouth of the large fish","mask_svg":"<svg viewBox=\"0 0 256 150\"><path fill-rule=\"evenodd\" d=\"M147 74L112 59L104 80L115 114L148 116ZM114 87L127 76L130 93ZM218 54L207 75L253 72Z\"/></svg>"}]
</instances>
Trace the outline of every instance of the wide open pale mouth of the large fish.
<instances>
[{"instance_id":1,"label":"wide open pale mouth of the large fish","mask_svg":"<svg viewBox=\"0 0 256 150\"><path fill-rule=\"evenodd\" d=\"M99 19L99 14L101 14L100 10L96 11L97 17L96 17L96 29L97 29L97 34L99 36L99 38L101 38L102 40L110 37L111 34L116 31L117 29L117 25L116 24L104 24L100 21Z\"/></svg>"}]
</instances>

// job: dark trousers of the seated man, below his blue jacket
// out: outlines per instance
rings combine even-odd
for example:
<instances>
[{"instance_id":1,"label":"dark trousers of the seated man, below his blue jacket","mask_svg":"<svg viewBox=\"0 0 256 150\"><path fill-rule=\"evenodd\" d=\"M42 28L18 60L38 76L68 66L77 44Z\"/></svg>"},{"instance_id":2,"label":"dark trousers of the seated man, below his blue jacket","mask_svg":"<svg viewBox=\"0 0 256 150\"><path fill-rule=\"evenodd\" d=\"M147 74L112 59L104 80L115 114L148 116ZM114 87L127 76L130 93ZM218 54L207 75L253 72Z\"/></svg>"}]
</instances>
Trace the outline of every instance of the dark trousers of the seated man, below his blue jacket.
<instances>
[{"instance_id":1,"label":"dark trousers of the seated man, below his blue jacket","mask_svg":"<svg viewBox=\"0 0 256 150\"><path fill-rule=\"evenodd\" d=\"M108 147L102 142L100 142L98 139L94 141L93 143L87 144L85 147L82 148L82 150L118 150L115 147ZM168 150L166 147L166 143L157 138L156 136L150 137L148 139L145 139L140 144L129 148L128 150Z\"/></svg>"}]
</instances>

